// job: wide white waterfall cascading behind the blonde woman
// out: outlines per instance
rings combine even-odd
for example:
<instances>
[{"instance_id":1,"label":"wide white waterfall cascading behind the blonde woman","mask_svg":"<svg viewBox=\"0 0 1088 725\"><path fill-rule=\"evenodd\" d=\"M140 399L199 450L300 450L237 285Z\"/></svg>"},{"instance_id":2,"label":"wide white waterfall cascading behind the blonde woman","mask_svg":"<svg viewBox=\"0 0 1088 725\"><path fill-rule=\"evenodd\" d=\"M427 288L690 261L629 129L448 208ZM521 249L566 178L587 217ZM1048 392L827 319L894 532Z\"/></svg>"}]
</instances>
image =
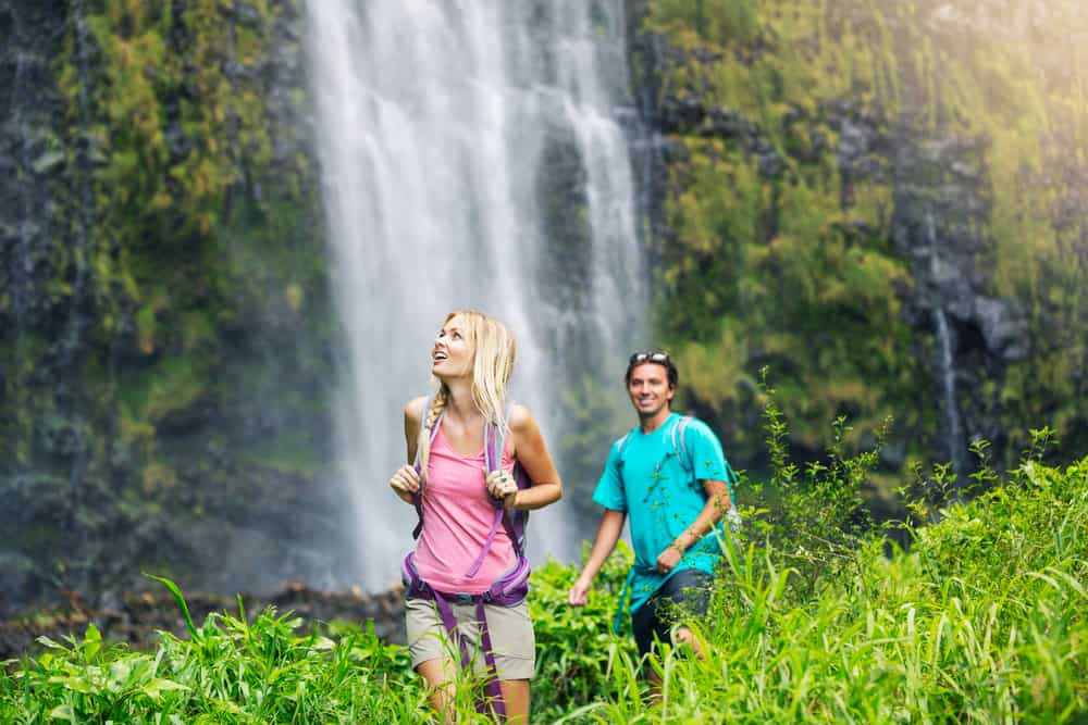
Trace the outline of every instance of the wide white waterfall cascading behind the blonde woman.
<instances>
[{"instance_id":1,"label":"wide white waterfall cascading behind the blonde woman","mask_svg":"<svg viewBox=\"0 0 1088 725\"><path fill-rule=\"evenodd\" d=\"M616 121L630 102L622 7L308 3L346 341L339 450L357 576L370 589L395 580L410 545L415 512L386 482L404 462L404 403L428 390L447 311L481 309L514 330L512 398L553 453L568 433L558 420L568 384L604 370L616 386L646 296ZM583 533L566 530L562 511L534 514L534 558L577 550Z\"/></svg>"}]
</instances>

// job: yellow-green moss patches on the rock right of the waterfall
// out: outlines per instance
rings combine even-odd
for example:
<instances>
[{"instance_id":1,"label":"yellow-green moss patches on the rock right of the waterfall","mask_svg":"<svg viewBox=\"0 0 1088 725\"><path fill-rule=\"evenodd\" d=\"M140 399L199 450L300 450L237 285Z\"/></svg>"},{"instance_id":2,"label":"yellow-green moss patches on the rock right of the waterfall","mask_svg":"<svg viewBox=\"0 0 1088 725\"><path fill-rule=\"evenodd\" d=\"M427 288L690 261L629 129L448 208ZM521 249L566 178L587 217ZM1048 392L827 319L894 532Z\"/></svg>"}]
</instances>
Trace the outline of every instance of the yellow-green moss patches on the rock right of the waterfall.
<instances>
[{"instance_id":1,"label":"yellow-green moss patches on the rock right of the waterfall","mask_svg":"<svg viewBox=\"0 0 1088 725\"><path fill-rule=\"evenodd\" d=\"M1004 391L992 414L1010 428L1055 417L1077 425L1073 401L1088 393L1071 382L1086 378L1084 222L1056 224L1055 210L1083 207L1058 179L1088 168L1088 66L1042 65L1047 33L1054 35L1043 42L1067 48L1061 23L1033 38L938 20L972 17L947 5L651 3L644 27L690 53L663 71L662 92L740 113L783 166L761 176L743 138L705 138L705 125L683 137L690 160L669 172L676 245L664 252L658 325L682 350L694 400L722 421L754 367L769 362L779 388L792 391L783 404L796 437L816 448L826 445L820 426L843 410L865 422L893 412L901 429L936 430L931 382L916 362L931 351L917 349L901 315L913 279L891 245L894 159L876 150L866 159L871 176L840 178L831 114L842 111L830 109L849 108L891 139L904 128L979 139L960 160L992 211L965 224L980 242L988 291L1018 298L1038 336L1027 360L992 379L981 372L981 385ZM712 8L720 21L700 24ZM1070 27L1072 8L1055 10ZM939 193L950 170L930 166L912 183ZM1075 332L1058 332L1066 327Z\"/></svg>"}]
</instances>

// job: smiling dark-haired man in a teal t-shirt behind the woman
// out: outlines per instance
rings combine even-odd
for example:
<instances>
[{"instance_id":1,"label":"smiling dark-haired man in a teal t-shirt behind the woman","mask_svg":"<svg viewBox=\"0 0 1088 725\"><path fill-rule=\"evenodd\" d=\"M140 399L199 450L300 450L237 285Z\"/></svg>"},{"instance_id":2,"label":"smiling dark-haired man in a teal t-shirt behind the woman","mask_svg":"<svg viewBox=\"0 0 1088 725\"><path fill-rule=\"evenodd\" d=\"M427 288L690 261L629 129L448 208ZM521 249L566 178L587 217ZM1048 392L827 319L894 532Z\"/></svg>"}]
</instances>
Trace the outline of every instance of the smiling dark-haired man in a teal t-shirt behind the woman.
<instances>
[{"instance_id":1,"label":"smiling dark-haired man in a teal t-shirt behind the woman","mask_svg":"<svg viewBox=\"0 0 1088 725\"><path fill-rule=\"evenodd\" d=\"M568 601L573 607L585 604L593 578L630 515L634 565L625 591L631 591L634 638L639 654L645 655L655 638L669 641L672 608L665 602L683 603L697 614L706 612L721 555L715 529L731 507L729 484L737 477L717 436L704 423L671 411L679 374L667 352L634 353L625 379L639 425L609 451L593 493L605 511L590 559L570 588ZM676 637L677 643L690 646L702 657L690 629L678 627ZM647 675L656 683L653 670Z\"/></svg>"}]
</instances>

